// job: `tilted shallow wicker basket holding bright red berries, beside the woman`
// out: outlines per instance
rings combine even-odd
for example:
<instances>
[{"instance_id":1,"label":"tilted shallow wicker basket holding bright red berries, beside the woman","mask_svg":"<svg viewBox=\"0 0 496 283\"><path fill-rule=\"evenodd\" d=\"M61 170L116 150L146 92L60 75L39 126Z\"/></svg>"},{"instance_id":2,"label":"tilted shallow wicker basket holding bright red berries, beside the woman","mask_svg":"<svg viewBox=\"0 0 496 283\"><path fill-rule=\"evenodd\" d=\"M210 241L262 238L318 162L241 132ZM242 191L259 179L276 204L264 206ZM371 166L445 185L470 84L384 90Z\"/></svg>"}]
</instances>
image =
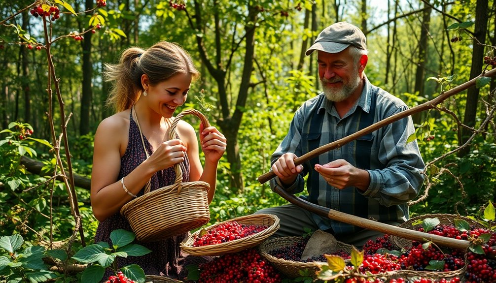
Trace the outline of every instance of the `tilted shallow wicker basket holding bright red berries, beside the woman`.
<instances>
[{"instance_id":1,"label":"tilted shallow wicker basket holding bright red berries, beside the woman","mask_svg":"<svg viewBox=\"0 0 496 283\"><path fill-rule=\"evenodd\" d=\"M232 221L236 221L239 224L245 225L265 225L268 226L268 228L241 239L227 241L220 244L193 247L193 243L196 237L198 237L201 232L201 230L199 230L186 237L186 239L184 239L179 246L182 250L191 255L223 255L226 253L239 252L244 249L254 247L263 242L267 237L271 236L277 231L277 229L279 229L279 218L277 216L272 214L252 214L217 223L206 228L206 230L208 231L214 229L215 227L223 223Z\"/></svg>"}]
</instances>

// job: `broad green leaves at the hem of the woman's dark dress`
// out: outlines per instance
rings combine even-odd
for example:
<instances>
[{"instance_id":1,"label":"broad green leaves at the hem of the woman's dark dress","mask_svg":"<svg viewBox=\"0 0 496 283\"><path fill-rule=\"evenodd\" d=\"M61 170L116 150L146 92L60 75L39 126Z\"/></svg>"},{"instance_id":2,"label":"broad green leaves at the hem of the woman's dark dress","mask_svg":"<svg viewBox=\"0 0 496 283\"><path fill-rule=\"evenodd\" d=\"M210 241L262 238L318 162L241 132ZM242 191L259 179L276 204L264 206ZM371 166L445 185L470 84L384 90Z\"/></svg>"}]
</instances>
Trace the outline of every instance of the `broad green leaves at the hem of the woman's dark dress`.
<instances>
[{"instance_id":1,"label":"broad green leaves at the hem of the woman's dark dress","mask_svg":"<svg viewBox=\"0 0 496 283\"><path fill-rule=\"evenodd\" d=\"M110 239L112 246L107 242L99 242L83 247L77 251L72 259L82 263L91 264L82 275L85 283L98 283L102 280L106 268L111 268L117 274L119 268L115 259L117 257L142 256L149 252L149 249L142 245L133 244L134 234L124 229L112 231ZM145 282L145 273L138 265L128 265L121 269L124 275L136 282Z\"/></svg>"}]
</instances>

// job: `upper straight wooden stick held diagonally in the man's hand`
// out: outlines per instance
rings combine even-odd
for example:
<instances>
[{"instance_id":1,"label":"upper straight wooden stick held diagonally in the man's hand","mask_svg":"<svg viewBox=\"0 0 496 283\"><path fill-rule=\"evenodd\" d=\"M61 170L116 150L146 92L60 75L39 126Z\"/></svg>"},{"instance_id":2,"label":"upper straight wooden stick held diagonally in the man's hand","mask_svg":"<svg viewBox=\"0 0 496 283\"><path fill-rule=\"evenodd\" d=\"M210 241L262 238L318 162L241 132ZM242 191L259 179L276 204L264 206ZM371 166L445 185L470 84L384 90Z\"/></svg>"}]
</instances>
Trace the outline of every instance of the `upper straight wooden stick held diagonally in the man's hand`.
<instances>
[{"instance_id":1,"label":"upper straight wooden stick held diagonally in the man's hand","mask_svg":"<svg viewBox=\"0 0 496 283\"><path fill-rule=\"evenodd\" d=\"M300 164L303 164L304 162L312 159L313 157L316 157L322 153L325 153L329 150L332 150L334 148L338 148L348 142L352 142L362 136L365 136L369 133L372 133L373 131L375 130L378 130L382 127L384 127L385 125L389 125L395 121L398 121L400 119L403 119L405 117L408 117L410 115L413 115L415 113L418 113L418 112L421 112L421 111L424 111L424 110L427 110L427 109L432 109L434 108L437 104L441 103L442 101L444 101L446 98L450 97L450 96L453 96L454 94L458 94L472 86L475 85L476 83L476 80L480 77L494 77L496 75L496 69L493 69L489 72L486 72L484 74L481 74L479 75L478 77L476 78L473 78L472 80L466 82L466 83L463 83L457 87L454 87L452 88L451 90L447 91L447 92L444 92L444 93L441 93L439 96L435 97L434 99L432 100L429 100L425 103L422 103L420 105L417 105L415 107L412 107L408 110L405 110L403 112L400 112L400 113L397 113L397 114L394 114L384 120L381 120L375 124L372 124L371 126L365 128L365 129L362 129L352 135L349 135L347 137L344 137L343 139L340 139L340 140L337 140L337 141L334 141L334 142L331 142L331 143L328 143L328 144L325 144L325 145L322 145L298 158L295 159L295 165L300 165ZM260 175L258 177L258 182L260 182L260 184L264 184L265 182L269 181L270 179L274 178L276 175L274 174L273 171L269 171L263 175Z\"/></svg>"}]
</instances>

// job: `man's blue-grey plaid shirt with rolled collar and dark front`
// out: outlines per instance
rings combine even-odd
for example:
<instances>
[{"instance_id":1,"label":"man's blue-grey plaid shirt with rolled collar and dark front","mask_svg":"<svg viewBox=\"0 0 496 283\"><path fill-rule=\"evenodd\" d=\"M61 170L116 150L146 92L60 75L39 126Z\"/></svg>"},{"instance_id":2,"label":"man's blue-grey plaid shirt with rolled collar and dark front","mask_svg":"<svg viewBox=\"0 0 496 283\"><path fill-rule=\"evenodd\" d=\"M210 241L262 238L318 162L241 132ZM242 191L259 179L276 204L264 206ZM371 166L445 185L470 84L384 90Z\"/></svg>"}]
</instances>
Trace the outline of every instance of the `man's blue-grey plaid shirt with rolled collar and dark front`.
<instances>
[{"instance_id":1,"label":"man's blue-grey plaid shirt with rolled collar and dark front","mask_svg":"<svg viewBox=\"0 0 496 283\"><path fill-rule=\"evenodd\" d=\"M364 76L364 90L356 105L340 118L333 102L324 94L306 101L295 113L288 135L272 154L272 164L286 152L296 156L347 137L367 126L406 110L408 107L399 98L372 86ZM407 201L419 193L422 186L425 164L416 141L407 143L415 132L411 117L403 118L382 127L368 135L321 154L303 164L303 172L290 187L291 193L304 190L304 176L307 178L308 195L302 195L312 203L348 214L380 222L408 219ZM353 166L367 170L370 186L366 191L355 187L336 189L313 169L318 164L326 164L336 159L344 159ZM282 185L279 178L270 181ZM334 234L358 232L362 228L313 214L320 230L332 228Z\"/></svg>"}]
</instances>

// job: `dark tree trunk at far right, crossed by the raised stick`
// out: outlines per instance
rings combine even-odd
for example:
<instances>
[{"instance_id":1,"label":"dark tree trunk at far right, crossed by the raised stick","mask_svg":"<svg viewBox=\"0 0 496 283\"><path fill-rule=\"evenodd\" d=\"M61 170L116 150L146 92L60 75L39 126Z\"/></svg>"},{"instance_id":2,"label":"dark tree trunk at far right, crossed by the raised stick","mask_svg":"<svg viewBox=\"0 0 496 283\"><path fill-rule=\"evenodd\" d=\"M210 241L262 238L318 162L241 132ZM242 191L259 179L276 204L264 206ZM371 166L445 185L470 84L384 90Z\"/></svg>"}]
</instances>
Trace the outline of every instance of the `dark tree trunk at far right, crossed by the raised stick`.
<instances>
[{"instance_id":1,"label":"dark tree trunk at far right, crossed by the raised stick","mask_svg":"<svg viewBox=\"0 0 496 283\"><path fill-rule=\"evenodd\" d=\"M472 67L470 69L470 79L473 79L481 74L484 61L484 44L486 42L486 32L488 29L488 0L477 0L475 7L475 31L473 42L474 49L472 50ZM479 42L477 42L479 41ZM479 44L480 43L480 44ZM477 116L477 104L479 103L479 89L471 87L467 90L467 104L465 106L465 115L463 124L468 127L475 126ZM461 136L458 144L464 144L471 136L472 131L466 128L461 129ZM465 156L470 152L470 146L467 146L459 151L458 156Z\"/></svg>"}]
</instances>

